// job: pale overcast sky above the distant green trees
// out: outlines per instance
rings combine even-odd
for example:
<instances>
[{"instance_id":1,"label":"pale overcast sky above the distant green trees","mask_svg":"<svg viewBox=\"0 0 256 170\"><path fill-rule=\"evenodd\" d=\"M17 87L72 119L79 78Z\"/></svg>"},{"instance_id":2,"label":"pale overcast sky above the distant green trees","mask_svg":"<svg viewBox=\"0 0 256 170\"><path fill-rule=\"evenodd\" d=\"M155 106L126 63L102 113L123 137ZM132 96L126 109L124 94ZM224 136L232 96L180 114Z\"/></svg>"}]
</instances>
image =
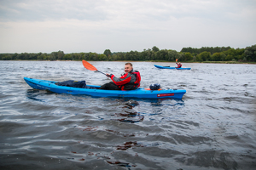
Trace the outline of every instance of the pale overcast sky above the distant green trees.
<instances>
[{"instance_id":1,"label":"pale overcast sky above the distant green trees","mask_svg":"<svg viewBox=\"0 0 256 170\"><path fill-rule=\"evenodd\" d=\"M0 0L0 53L256 44L256 0Z\"/></svg>"}]
</instances>

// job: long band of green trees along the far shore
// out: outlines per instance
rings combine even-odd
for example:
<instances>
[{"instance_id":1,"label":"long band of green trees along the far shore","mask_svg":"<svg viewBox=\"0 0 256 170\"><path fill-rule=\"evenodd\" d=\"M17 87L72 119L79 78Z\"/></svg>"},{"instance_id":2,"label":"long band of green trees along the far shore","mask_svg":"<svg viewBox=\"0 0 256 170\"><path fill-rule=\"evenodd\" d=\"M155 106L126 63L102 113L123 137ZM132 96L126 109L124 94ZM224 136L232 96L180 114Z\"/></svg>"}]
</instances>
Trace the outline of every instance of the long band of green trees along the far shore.
<instances>
[{"instance_id":1,"label":"long band of green trees along the far shore","mask_svg":"<svg viewBox=\"0 0 256 170\"><path fill-rule=\"evenodd\" d=\"M157 47L143 49L142 52L114 52L106 49L103 54L96 53L72 53L64 54L63 51L46 53L21 53L21 54L0 54L1 60L94 60L94 61L252 61L256 59L256 45L247 48L230 47L202 47L202 48L182 48L180 52L172 49L159 49Z\"/></svg>"}]
</instances>

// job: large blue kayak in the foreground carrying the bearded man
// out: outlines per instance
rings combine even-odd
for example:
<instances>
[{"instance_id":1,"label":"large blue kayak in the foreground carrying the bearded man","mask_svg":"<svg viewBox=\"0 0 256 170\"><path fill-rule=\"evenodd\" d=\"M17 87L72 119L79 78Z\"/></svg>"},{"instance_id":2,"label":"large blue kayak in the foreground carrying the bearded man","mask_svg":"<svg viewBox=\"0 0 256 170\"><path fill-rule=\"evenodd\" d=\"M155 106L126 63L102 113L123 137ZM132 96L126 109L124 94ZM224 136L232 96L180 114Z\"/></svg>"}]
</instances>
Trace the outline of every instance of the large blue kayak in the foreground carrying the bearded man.
<instances>
[{"instance_id":1,"label":"large blue kayak in the foreground carrying the bearded man","mask_svg":"<svg viewBox=\"0 0 256 170\"><path fill-rule=\"evenodd\" d=\"M86 88L72 88L67 86L58 86L57 82L33 79L24 77L26 83L32 88L39 90L49 90L56 94L74 94L90 95L94 97L121 97L121 98L139 98L139 99L182 99L185 89L160 89L150 90L149 88L137 88L136 90L103 90L100 86L86 85Z\"/></svg>"}]
</instances>

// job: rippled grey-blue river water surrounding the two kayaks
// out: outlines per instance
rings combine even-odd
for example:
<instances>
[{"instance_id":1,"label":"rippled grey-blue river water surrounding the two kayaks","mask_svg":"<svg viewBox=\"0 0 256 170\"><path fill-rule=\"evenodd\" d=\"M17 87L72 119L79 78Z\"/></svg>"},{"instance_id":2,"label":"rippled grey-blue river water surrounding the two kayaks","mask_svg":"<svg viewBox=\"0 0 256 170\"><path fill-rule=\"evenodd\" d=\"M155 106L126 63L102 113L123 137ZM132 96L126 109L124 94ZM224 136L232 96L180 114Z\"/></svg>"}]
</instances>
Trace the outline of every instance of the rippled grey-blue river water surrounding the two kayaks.
<instances>
[{"instance_id":1,"label":"rippled grey-blue river water surrounding the two kayaks","mask_svg":"<svg viewBox=\"0 0 256 170\"><path fill-rule=\"evenodd\" d=\"M119 76L125 62L90 62ZM256 65L133 62L141 87L187 90L182 100L54 94L23 77L110 79L79 61L0 61L0 169L254 169Z\"/></svg>"}]
</instances>

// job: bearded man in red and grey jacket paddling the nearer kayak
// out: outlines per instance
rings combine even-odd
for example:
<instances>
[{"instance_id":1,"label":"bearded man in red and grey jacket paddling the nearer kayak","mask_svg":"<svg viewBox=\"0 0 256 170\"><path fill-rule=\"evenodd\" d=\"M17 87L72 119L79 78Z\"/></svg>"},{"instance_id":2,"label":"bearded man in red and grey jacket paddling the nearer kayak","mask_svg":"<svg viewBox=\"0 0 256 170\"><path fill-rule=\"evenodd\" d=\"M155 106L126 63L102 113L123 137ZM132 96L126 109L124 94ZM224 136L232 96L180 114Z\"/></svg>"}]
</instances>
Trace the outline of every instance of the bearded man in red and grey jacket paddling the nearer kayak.
<instances>
[{"instance_id":1,"label":"bearded man in red and grey jacket paddling the nearer kayak","mask_svg":"<svg viewBox=\"0 0 256 170\"><path fill-rule=\"evenodd\" d=\"M113 74L106 74L113 82L103 84L100 89L108 90L134 90L140 86L141 76L139 71L133 71L131 63L125 63L125 74L122 77L115 77Z\"/></svg>"}]
</instances>

